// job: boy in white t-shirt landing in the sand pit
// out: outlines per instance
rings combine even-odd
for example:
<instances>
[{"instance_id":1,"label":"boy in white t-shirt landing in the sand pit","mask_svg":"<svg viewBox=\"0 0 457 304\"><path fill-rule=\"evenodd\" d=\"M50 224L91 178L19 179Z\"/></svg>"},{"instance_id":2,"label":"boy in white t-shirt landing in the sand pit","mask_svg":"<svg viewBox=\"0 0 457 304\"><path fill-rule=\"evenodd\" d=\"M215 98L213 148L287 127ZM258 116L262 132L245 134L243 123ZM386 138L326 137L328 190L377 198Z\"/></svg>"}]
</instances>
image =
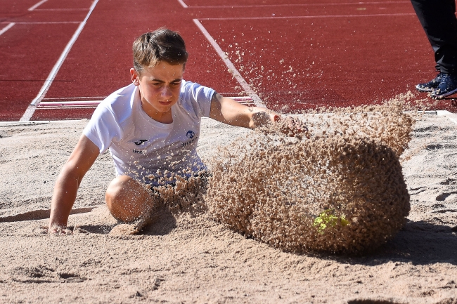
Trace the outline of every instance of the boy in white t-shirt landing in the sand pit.
<instances>
[{"instance_id":1,"label":"boy in white t-shirt landing in the sand pit","mask_svg":"<svg viewBox=\"0 0 457 304\"><path fill-rule=\"evenodd\" d=\"M188 53L176 32L157 29L143 34L134 41L133 51L132 84L98 105L56 180L51 233L67 225L84 174L108 149L117 177L108 185L106 203L117 220L132 222L154 204L144 185L157 185L157 170L190 177L205 168L196 152L202 117L245 128L280 119L274 112L241 105L212 88L185 81ZM292 124L290 128L301 131L300 123Z\"/></svg>"}]
</instances>

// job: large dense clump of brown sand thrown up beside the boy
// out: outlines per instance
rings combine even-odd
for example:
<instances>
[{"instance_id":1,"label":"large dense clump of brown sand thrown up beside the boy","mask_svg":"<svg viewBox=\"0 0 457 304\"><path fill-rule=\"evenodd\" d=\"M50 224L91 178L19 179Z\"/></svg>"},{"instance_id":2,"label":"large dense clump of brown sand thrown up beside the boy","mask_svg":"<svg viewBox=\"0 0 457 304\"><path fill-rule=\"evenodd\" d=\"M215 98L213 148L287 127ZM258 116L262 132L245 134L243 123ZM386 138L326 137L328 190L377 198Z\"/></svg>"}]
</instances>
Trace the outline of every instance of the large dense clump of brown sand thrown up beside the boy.
<instances>
[{"instance_id":1,"label":"large dense clump of brown sand thrown up beside the boy","mask_svg":"<svg viewBox=\"0 0 457 304\"><path fill-rule=\"evenodd\" d=\"M236 140L211 161L211 215L286 251L377 248L410 209L399 157L413 119L402 109L332 109L308 116L310 138L270 129Z\"/></svg>"}]
</instances>

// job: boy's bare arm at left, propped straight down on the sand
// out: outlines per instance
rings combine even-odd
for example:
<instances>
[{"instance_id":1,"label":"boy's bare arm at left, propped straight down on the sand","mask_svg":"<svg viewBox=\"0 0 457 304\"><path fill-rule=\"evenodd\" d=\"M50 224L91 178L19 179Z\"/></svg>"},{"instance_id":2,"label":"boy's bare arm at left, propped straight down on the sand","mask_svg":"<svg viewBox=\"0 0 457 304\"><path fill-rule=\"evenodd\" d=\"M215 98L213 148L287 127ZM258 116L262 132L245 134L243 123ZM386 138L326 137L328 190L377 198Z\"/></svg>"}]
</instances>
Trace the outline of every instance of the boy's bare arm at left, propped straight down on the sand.
<instances>
[{"instance_id":1,"label":"boy's bare arm at left, propped straight down on the sand","mask_svg":"<svg viewBox=\"0 0 457 304\"><path fill-rule=\"evenodd\" d=\"M76 193L82 178L89 171L97 159L100 150L89 138L82 135L63 165L62 171L54 185L51 201L51 216L49 218L49 232L55 233L58 227L66 227L68 216L75 204Z\"/></svg>"}]
</instances>

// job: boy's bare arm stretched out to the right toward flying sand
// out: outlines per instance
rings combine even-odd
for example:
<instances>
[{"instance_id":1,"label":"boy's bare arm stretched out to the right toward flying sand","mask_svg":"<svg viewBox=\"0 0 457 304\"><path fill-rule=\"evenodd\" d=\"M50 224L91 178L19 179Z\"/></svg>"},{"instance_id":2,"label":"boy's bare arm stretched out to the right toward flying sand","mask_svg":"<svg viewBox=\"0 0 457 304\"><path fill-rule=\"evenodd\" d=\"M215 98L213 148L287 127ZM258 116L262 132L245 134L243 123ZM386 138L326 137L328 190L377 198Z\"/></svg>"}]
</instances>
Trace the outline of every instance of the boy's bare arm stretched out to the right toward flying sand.
<instances>
[{"instance_id":1,"label":"boy's bare arm stretched out to the right toward flying sand","mask_svg":"<svg viewBox=\"0 0 457 304\"><path fill-rule=\"evenodd\" d=\"M230 124L231 126L242 126L244 128L256 128L267 124L281 121L281 116L264 107L247 107L231 98L225 98L219 93L214 93L211 100L210 118ZM288 128L293 131L303 132L307 128L299 121L291 117L286 118Z\"/></svg>"}]
</instances>

